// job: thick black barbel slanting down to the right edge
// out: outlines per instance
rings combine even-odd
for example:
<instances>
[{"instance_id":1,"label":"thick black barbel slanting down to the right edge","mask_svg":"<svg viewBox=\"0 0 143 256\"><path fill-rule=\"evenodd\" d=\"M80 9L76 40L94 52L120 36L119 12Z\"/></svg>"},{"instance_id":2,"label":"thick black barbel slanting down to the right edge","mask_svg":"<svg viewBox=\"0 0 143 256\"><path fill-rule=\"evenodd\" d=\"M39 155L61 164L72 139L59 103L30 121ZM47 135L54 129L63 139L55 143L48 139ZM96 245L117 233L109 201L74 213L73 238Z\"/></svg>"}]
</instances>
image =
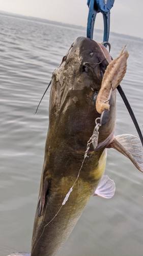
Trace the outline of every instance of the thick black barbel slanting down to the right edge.
<instances>
[{"instance_id":1,"label":"thick black barbel slanting down to the right edge","mask_svg":"<svg viewBox=\"0 0 143 256\"><path fill-rule=\"evenodd\" d=\"M142 137L142 134L141 134L141 131L140 131L138 122L137 122L137 120L136 120L136 118L135 118L135 115L134 115L134 113L133 113L133 111L132 111L132 108L131 108L131 106L130 106L130 103L129 103L129 101L128 101L128 99L127 99L127 97L126 97L126 95L125 95L125 93L124 93L124 91L123 91L123 89L122 89L122 87L120 86L120 84L119 84L119 86L117 87L117 89L118 89L118 92L120 93L120 95L121 95L121 97L122 97L122 99L123 99L123 101L124 101L124 103L125 103L125 105L126 105L126 108L127 108L128 112L129 112L129 114L130 114L130 117L131 117L131 119L132 119L134 125L135 125L136 131L137 131L137 133L138 133L138 136L139 136L139 138L140 138L141 144L142 144L142 146L143 146L143 137Z\"/></svg>"}]
</instances>

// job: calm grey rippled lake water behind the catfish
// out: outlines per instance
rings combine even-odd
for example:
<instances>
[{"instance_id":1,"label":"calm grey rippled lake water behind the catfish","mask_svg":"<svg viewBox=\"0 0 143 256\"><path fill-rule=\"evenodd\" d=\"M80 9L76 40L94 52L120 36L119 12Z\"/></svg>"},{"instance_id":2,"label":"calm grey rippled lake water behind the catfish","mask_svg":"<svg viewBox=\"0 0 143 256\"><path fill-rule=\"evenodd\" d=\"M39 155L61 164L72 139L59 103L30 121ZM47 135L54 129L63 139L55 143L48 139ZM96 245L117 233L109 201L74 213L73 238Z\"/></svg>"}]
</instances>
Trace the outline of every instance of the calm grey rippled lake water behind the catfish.
<instances>
[{"instance_id":1,"label":"calm grey rippled lake water behind the catfish","mask_svg":"<svg viewBox=\"0 0 143 256\"><path fill-rule=\"evenodd\" d=\"M48 128L53 70L85 29L0 15L1 148L0 255L29 252ZM102 41L102 33L94 33ZM130 54L121 85L143 132L143 40L110 35L111 55L125 44ZM116 135L137 135L118 94ZM91 198L58 256L142 256L143 174L109 149L105 174L116 183L112 199Z\"/></svg>"}]
</instances>

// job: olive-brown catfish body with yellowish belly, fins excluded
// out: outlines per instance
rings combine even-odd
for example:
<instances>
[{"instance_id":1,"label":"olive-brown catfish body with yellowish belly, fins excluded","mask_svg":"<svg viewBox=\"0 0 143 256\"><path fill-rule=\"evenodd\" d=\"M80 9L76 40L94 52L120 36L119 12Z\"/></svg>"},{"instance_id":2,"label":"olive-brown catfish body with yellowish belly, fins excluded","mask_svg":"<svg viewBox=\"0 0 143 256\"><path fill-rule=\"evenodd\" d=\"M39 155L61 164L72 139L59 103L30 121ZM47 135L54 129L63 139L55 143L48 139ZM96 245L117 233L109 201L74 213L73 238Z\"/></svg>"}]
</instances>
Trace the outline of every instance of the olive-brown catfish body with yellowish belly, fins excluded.
<instances>
[{"instance_id":1,"label":"olive-brown catfish body with yellowish belly, fins excluded","mask_svg":"<svg viewBox=\"0 0 143 256\"><path fill-rule=\"evenodd\" d=\"M100 61L102 63L98 65L84 65L84 62ZM106 146L94 151L91 145L89 157L83 163L73 191L57 214L77 178L87 142L93 134L95 119L100 117L95 108L93 95L95 91L100 90L102 75L107 65L108 61L97 42L78 37L63 58L60 67L52 74L49 127L31 256L56 254L68 238L104 174ZM110 100L109 121L99 128L99 142L110 135L115 122L114 91Z\"/></svg>"}]
</instances>

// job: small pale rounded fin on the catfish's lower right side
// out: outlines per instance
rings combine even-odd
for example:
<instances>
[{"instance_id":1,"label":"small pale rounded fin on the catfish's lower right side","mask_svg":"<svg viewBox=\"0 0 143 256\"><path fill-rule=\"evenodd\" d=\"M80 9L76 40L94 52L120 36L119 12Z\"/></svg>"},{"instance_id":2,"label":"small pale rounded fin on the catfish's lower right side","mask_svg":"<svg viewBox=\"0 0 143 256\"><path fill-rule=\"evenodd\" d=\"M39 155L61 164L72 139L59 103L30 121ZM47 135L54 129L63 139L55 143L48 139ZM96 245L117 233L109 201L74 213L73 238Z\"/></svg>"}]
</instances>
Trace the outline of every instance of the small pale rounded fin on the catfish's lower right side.
<instances>
[{"instance_id":1,"label":"small pale rounded fin on the catfish's lower right side","mask_svg":"<svg viewBox=\"0 0 143 256\"><path fill-rule=\"evenodd\" d=\"M115 182L109 179L107 175L104 175L95 190L94 196L112 198L115 194L115 189Z\"/></svg>"}]
</instances>

